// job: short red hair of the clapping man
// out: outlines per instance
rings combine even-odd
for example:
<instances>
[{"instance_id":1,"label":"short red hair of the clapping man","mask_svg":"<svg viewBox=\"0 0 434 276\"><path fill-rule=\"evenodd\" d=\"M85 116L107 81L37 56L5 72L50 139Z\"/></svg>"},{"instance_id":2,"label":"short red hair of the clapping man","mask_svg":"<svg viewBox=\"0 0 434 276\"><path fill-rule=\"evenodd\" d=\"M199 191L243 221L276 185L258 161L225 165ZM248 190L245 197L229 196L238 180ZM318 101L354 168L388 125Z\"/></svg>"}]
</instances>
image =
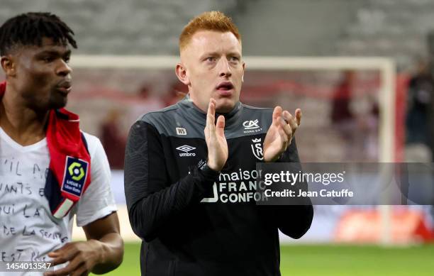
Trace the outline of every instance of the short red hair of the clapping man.
<instances>
[{"instance_id":1,"label":"short red hair of the clapping man","mask_svg":"<svg viewBox=\"0 0 434 276\"><path fill-rule=\"evenodd\" d=\"M206 11L191 19L184 27L181 35L179 35L179 51L189 44L191 37L197 31L230 32L233 33L241 43L241 35L230 17L226 16L221 11Z\"/></svg>"}]
</instances>

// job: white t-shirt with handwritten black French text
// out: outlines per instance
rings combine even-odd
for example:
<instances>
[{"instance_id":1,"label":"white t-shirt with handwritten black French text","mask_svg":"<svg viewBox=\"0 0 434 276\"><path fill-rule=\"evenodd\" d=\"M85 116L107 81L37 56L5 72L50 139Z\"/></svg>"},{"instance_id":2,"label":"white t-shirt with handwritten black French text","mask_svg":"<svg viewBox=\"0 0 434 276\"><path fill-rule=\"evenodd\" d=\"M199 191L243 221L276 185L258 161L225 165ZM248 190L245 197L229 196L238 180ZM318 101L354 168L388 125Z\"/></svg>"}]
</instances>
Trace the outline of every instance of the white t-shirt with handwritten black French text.
<instances>
[{"instance_id":1,"label":"white t-shirt with handwritten black French text","mask_svg":"<svg viewBox=\"0 0 434 276\"><path fill-rule=\"evenodd\" d=\"M44 195L50 165L46 138L22 146L0 128L0 262L50 260L48 253L71 241L74 215L77 226L85 226L116 211L104 148L95 136L84 137L91 184L67 216L55 219Z\"/></svg>"}]
</instances>

